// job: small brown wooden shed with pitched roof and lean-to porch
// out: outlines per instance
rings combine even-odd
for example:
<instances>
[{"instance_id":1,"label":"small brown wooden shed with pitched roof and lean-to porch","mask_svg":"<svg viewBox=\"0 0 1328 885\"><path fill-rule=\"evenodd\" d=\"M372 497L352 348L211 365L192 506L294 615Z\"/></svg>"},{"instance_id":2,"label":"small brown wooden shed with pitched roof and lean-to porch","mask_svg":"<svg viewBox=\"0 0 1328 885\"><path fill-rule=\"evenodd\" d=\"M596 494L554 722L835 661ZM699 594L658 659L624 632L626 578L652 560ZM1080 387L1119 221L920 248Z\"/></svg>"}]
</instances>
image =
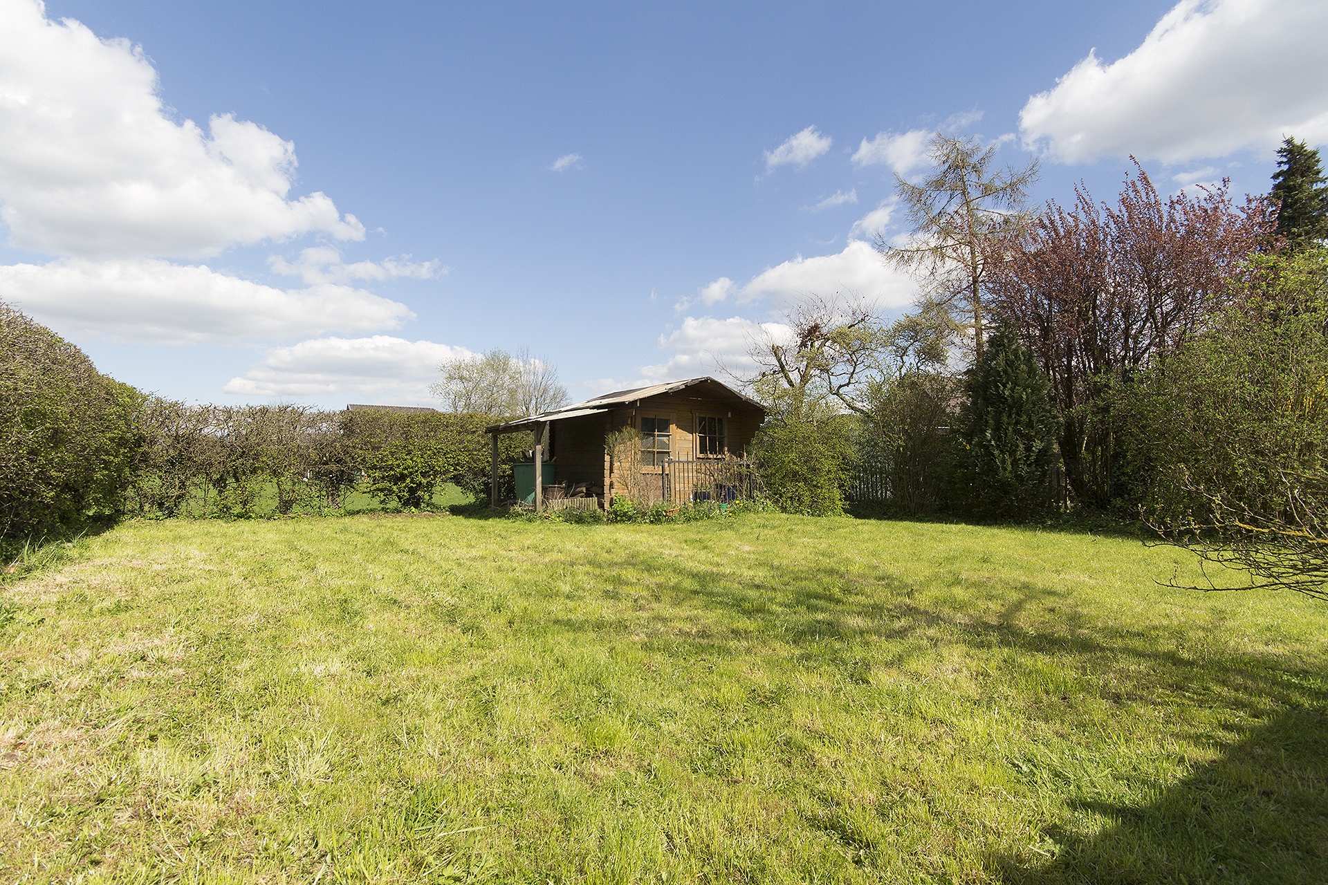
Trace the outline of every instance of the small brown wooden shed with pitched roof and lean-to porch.
<instances>
[{"instance_id":1,"label":"small brown wooden shed with pitched roof and lean-to porch","mask_svg":"<svg viewBox=\"0 0 1328 885\"><path fill-rule=\"evenodd\" d=\"M625 487L644 487L652 500L692 500L710 494L697 491L699 483L704 484L705 476L713 478L725 463L745 460L762 421L761 403L706 377L615 390L494 425L486 429L493 439L493 504L498 504L501 434L534 435L531 467L526 470L535 474L537 510L550 492L559 498L584 495L594 506L607 507L615 491ZM639 458L620 464L606 451L606 439L623 427L640 431L641 446ZM625 476L624 470L640 476ZM548 474L554 483L548 482ZM713 486L713 479L709 482Z\"/></svg>"}]
</instances>

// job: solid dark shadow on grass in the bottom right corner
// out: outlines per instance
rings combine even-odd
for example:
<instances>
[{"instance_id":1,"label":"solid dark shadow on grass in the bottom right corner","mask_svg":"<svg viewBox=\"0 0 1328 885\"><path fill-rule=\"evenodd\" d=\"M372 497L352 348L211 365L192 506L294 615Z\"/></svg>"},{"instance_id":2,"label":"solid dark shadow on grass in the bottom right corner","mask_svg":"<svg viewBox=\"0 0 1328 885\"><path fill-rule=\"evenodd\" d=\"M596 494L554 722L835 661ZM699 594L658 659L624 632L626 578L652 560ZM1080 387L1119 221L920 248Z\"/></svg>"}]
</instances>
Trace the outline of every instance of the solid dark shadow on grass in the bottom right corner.
<instances>
[{"instance_id":1,"label":"solid dark shadow on grass in the bottom right corner","mask_svg":"<svg viewBox=\"0 0 1328 885\"><path fill-rule=\"evenodd\" d=\"M1049 831L1037 864L995 856L1005 882L1328 882L1328 710L1283 710L1142 807L1084 801L1114 823Z\"/></svg>"}]
</instances>

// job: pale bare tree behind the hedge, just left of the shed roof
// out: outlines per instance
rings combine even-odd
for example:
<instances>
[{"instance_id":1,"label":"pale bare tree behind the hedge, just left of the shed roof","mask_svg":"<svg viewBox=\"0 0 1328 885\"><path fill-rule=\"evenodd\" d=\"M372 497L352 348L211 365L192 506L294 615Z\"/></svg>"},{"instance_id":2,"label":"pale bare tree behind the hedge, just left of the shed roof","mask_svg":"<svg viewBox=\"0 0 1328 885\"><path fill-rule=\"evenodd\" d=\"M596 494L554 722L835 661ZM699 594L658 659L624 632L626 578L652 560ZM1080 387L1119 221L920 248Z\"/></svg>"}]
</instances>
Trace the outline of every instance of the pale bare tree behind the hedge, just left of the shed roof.
<instances>
[{"instance_id":1,"label":"pale bare tree behind the hedge, just left of the shed roof","mask_svg":"<svg viewBox=\"0 0 1328 885\"><path fill-rule=\"evenodd\" d=\"M429 391L442 399L449 411L475 411L486 415L535 415L567 402L567 387L558 370L529 350L510 354L490 350L469 360L438 366L442 381Z\"/></svg>"}]
</instances>

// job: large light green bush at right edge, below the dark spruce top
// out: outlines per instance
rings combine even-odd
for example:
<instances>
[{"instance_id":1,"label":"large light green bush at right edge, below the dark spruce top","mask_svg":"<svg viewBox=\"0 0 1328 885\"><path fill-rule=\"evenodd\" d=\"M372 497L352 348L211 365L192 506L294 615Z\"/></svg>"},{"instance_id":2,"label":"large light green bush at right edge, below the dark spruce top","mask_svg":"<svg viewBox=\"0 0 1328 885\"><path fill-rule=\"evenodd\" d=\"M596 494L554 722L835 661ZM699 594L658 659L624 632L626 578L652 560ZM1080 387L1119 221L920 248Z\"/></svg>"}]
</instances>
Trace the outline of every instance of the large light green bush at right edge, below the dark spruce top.
<instances>
[{"instance_id":1,"label":"large light green bush at right edge, below the dark spruce top","mask_svg":"<svg viewBox=\"0 0 1328 885\"><path fill-rule=\"evenodd\" d=\"M1328 596L1328 251L1255 263L1239 308L1122 398L1163 539Z\"/></svg>"}]
</instances>

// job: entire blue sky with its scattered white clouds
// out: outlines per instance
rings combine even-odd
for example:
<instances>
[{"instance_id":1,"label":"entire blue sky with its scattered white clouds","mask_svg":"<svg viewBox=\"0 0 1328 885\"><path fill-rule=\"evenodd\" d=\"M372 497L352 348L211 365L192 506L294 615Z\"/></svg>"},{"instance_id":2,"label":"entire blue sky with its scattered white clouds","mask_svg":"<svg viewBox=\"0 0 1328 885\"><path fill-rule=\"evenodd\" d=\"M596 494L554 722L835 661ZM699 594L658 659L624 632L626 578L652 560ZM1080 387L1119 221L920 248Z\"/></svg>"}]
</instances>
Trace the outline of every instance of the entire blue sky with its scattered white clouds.
<instances>
[{"instance_id":1,"label":"entire blue sky with its scattered white clouds","mask_svg":"<svg viewBox=\"0 0 1328 885\"><path fill-rule=\"evenodd\" d=\"M495 346L579 399L741 368L807 293L898 312L867 241L938 127L1040 157L1040 200L1131 153L1263 192L1282 134L1328 141L1309 0L0 16L0 299L191 401L428 403Z\"/></svg>"}]
</instances>

